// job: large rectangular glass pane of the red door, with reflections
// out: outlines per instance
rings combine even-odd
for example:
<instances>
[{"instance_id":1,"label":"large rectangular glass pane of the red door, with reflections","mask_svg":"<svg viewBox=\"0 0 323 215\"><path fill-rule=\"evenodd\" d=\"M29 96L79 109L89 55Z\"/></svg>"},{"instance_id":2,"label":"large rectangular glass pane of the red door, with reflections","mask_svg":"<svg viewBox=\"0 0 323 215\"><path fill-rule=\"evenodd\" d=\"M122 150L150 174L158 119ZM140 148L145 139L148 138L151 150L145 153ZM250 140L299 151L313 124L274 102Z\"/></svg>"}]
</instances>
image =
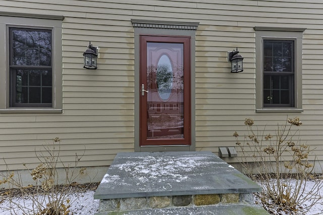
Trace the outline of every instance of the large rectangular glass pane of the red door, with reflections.
<instances>
[{"instance_id":1,"label":"large rectangular glass pane of the red door, with reflections","mask_svg":"<svg viewBox=\"0 0 323 215\"><path fill-rule=\"evenodd\" d=\"M147 139L184 138L183 43L147 43Z\"/></svg>"}]
</instances>

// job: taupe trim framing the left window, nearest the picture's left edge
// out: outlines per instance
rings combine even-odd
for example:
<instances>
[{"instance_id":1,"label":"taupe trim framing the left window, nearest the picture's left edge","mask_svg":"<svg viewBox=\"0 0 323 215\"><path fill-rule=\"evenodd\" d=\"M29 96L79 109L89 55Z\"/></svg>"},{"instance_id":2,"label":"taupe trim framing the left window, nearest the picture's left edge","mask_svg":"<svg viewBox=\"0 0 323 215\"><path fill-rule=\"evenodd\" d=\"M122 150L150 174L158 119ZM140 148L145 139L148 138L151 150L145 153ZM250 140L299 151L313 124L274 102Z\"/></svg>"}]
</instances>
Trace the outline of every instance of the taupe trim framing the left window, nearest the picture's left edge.
<instances>
[{"instance_id":1,"label":"taupe trim framing the left window, nearest the picture's left edge","mask_svg":"<svg viewBox=\"0 0 323 215\"><path fill-rule=\"evenodd\" d=\"M62 113L62 20L63 16L34 15L0 11L0 113ZM12 108L9 107L9 27L39 27L52 29L53 77L52 107Z\"/></svg>"}]
</instances>

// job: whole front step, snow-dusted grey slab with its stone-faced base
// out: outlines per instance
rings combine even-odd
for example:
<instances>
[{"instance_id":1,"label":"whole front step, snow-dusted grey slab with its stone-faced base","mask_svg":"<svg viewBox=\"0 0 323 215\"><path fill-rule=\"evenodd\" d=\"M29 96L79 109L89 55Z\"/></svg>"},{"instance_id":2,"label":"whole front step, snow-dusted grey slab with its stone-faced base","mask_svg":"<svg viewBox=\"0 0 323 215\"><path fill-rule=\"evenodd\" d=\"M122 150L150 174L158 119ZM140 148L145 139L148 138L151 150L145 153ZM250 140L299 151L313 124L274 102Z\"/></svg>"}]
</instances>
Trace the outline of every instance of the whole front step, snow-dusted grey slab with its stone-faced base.
<instances>
[{"instance_id":1,"label":"whole front step, snow-dusted grey slab with its stone-faced base","mask_svg":"<svg viewBox=\"0 0 323 215\"><path fill-rule=\"evenodd\" d=\"M94 198L100 199L96 214L160 209L173 214L185 208L229 209L231 204L254 208L252 193L259 191L255 182L211 152L120 153Z\"/></svg>"}]
</instances>

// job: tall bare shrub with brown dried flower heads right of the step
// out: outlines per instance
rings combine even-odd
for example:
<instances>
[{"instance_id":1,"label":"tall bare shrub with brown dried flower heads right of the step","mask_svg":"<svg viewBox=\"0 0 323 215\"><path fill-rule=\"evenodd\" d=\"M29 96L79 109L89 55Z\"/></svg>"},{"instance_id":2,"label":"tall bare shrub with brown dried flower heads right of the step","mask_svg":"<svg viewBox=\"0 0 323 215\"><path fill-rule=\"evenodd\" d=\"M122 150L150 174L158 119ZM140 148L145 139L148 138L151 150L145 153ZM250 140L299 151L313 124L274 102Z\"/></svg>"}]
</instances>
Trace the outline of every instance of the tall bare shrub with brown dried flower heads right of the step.
<instances>
[{"instance_id":1,"label":"tall bare shrub with brown dried flower heads right of the step","mask_svg":"<svg viewBox=\"0 0 323 215\"><path fill-rule=\"evenodd\" d=\"M284 125L277 125L274 134L266 133L265 126L263 130L254 129L251 118L245 119L244 124L247 134L244 134L243 142L239 141L237 132L233 136L242 153L245 173L262 187L259 197L264 208L271 213L281 210L303 214L308 211L320 198L322 180L315 177L316 159L308 160L312 150L299 139L298 126L302 122L298 117L288 118ZM309 180L314 180L315 185L306 192ZM310 205L305 205L309 199Z\"/></svg>"}]
</instances>

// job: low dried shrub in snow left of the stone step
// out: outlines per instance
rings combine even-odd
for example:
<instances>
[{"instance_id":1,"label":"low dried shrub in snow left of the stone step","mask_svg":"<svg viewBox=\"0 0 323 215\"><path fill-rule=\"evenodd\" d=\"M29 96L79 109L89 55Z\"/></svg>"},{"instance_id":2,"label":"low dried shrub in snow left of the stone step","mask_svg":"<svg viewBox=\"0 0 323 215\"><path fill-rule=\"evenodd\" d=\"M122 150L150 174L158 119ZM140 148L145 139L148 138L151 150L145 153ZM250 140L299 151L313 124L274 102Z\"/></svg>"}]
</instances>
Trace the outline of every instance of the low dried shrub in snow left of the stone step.
<instances>
[{"instance_id":1,"label":"low dried shrub in snow left of the stone step","mask_svg":"<svg viewBox=\"0 0 323 215\"><path fill-rule=\"evenodd\" d=\"M35 181L35 185L23 186L21 176L14 177L14 172L8 171L7 175L0 175L3 177L0 185L2 183L9 185L5 194L10 200L10 208L7 209L10 209L11 214L71 214L69 208L73 199L69 199L69 196L73 192L73 185L77 184L75 180L85 174L85 168L76 169L83 155L76 154L74 164L66 166L61 160L60 152L61 139L56 137L52 140L52 144L43 146L42 152L35 152L40 162L36 168L29 170L26 164L23 164ZM59 175L59 168L65 170L63 171L65 175ZM17 195L20 196L19 199Z\"/></svg>"}]
</instances>

